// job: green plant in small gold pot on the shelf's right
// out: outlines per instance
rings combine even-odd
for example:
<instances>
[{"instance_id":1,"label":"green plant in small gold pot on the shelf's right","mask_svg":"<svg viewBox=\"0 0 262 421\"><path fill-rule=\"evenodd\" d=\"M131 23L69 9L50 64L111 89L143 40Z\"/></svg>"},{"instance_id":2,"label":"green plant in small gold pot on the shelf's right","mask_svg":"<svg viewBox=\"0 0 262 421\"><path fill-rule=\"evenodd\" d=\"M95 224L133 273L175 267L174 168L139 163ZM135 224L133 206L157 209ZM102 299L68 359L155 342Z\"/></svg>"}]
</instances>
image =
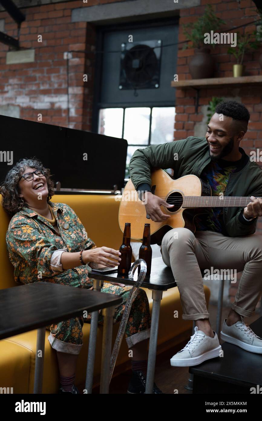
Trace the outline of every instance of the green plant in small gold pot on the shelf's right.
<instances>
[{"instance_id":1,"label":"green plant in small gold pot on the shelf's right","mask_svg":"<svg viewBox=\"0 0 262 421\"><path fill-rule=\"evenodd\" d=\"M248 34L239 34L237 32L237 43L236 47L228 48L228 54L233 54L236 58L236 64L233 64L233 76L239 77L243 75L244 65L243 58L244 54L248 51L256 49L259 45L258 40L256 39L256 32L251 32ZM255 37L255 39L254 39ZM252 41L253 39L253 41Z\"/></svg>"}]
</instances>

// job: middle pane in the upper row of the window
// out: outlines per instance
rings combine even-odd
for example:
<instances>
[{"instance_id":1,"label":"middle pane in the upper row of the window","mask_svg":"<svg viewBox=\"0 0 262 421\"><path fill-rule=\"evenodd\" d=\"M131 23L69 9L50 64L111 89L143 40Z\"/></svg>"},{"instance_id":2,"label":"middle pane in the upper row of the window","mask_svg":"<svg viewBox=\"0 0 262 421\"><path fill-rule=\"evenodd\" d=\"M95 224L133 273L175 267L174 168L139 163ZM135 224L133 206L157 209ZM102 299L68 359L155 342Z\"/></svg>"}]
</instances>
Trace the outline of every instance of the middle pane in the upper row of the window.
<instances>
[{"instance_id":1,"label":"middle pane in the upper row of the window","mask_svg":"<svg viewBox=\"0 0 262 421\"><path fill-rule=\"evenodd\" d=\"M150 108L126 108L124 113L124 139L128 144L148 144Z\"/></svg>"}]
</instances>

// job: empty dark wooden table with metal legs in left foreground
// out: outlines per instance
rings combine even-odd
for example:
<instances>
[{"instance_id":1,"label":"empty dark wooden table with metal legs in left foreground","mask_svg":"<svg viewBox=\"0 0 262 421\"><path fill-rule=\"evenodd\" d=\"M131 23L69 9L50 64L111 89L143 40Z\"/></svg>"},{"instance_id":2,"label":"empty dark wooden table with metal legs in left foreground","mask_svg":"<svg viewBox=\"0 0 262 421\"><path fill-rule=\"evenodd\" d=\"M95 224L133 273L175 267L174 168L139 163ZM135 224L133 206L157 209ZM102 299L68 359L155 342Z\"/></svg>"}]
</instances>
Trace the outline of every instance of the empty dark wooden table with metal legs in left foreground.
<instances>
[{"instance_id":1,"label":"empty dark wooden table with metal legs in left foreground","mask_svg":"<svg viewBox=\"0 0 262 421\"><path fill-rule=\"evenodd\" d=\"M70 289L69 289L70 288ZM8 338L19 333L37 329L37 349L34 373L34 393L42 392L42 378L45 352L45 326L53 322L67 320L71 317L83 315L83 311L98 311L99 309L113 309L122 302L122 298L112 294L90 291L85 288L68 287L51 282L37 282L0 290L0 339ZM113 313L114 314L114 313ZM106 314L106 317L108 315ZM109 312L109 318L112 316ZM108 354L111 352L110 327L112 320L107 323L109 329L104 329L103 341L110 346L102 352L106 361L102 361L103 380L109 378L104 373L108 367ZM42 357L38 357L41 350ZM103 386L105 390L108 385Z\"/></svg>"}]
</instances>

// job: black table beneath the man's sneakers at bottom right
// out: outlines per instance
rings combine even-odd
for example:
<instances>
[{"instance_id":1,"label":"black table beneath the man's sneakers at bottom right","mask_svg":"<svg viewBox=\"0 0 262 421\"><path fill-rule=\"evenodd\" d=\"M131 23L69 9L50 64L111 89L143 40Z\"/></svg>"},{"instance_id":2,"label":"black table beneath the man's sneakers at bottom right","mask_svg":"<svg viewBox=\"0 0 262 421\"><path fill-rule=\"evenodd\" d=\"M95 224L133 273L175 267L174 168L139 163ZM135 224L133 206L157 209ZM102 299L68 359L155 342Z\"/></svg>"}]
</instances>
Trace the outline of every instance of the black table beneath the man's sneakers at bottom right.
<instances>
[{"instance_id":1,"label":"black table beneath the man's sneakers at bottom right","mask_svg":"<svg viewBox=\"0 0 262 421\"><path fill-rule=\"evenodd\" d=\"M251 323L251 329L262 338L262 317ZM212 358L190 367L193 373L193 393L245 393L262 386L262 354L246 351L224 342L223 357ZM261 393L256 392L256 393Z\"/></svg>"}]
</instances>

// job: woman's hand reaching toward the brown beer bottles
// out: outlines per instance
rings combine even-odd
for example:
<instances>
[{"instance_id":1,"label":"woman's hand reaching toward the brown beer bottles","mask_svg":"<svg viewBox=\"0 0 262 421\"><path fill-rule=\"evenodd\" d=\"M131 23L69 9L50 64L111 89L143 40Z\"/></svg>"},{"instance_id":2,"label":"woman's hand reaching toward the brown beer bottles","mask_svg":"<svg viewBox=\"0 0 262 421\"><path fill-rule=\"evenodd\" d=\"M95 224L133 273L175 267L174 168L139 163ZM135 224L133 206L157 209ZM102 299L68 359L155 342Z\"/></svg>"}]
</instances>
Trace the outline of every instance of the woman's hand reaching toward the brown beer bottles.
<instances>
[{"instance_id":1,"label":"woman's hand reaching toward the brown beer bottles","mask_svg":"<svg viewBox=\"0 0 262 421\"><path fill-rule=\"evenodd\" d=\"M83 251L82 256L85 262L90 261L106 267L114 267L119 265L119 261L121 261L121 253L119 250L114 250L114 248L108 248L105 246L96 247L92 250L85 250ZM112 262L112 259L116 262Z\"/></svg>"}]
</instances>

